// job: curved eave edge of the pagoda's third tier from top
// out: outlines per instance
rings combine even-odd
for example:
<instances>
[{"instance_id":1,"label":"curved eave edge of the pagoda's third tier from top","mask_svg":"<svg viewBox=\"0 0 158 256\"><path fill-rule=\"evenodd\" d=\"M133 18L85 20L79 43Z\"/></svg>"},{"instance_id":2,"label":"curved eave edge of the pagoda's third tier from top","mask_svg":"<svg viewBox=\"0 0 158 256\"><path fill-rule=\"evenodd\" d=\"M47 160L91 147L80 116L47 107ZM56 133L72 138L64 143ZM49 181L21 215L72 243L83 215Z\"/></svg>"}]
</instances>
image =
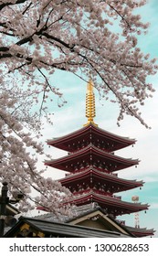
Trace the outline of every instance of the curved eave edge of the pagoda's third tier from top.
<instances>
[{"instance_id":1,"label":"curved eave edge of the pagoda's third tier from top","mask_svg":"<svg viewBox=\"0 0 158 256\"><path fill-rule=\"evenodd\" d=\"M74 187L76 184L82 182L85 183L86 181L89 182L90 178L93 178L93 184L97 183L100 180L100 184L110 183L113 186L119 186L120 189L116 188L116 191L115 188L113 188L113 193L143 186L142 181L122 179L118 176L113 176L108 173L100 172L99 170L93 167L90 167L78 173L74 173L72 175L65 176L64 178L61 178L58 181L62 184L62 186Z\"/></svg>"}]
</instances>

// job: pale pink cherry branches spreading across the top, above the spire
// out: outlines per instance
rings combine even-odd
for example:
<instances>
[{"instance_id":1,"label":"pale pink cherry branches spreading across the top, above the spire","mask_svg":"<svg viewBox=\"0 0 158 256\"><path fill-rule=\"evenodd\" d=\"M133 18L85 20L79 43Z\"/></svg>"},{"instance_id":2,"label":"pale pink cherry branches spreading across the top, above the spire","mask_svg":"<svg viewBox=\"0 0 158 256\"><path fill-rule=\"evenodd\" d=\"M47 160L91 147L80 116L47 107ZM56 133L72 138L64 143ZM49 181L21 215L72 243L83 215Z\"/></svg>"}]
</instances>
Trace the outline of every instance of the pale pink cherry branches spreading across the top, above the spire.
<instances>
[{"instance_id":1,"label":"pale pink cherry branches spreading across the top, above the spire","mask_svg":"<svg viewBox=\"0 0 158 256\"><path fill-rule=\"evenodd\" d=\"M51 80L56 69L84 80L91 76L103 97L119 103L118 122L127 113L146 125L139 104L152 96L153 86L146 78L155 74L157 65L137 46L139 35L147 32L149 24L142 23L134 11L145 3L0 1L0 60L5 65L2 79L18 73L29 80L30 86L42 86L44 103L50 91L62 98ZM44 108L42 104L40 111Z\"/></svg>"}]
</instances>

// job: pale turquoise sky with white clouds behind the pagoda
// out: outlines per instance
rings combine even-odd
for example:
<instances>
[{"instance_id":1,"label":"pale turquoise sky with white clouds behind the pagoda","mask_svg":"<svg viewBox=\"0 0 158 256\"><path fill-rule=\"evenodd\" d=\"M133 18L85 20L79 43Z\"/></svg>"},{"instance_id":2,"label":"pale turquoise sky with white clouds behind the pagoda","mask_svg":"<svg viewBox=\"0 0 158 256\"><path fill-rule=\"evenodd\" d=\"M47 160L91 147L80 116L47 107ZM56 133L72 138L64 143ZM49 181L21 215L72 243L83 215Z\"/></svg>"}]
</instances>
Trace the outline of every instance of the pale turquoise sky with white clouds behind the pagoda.
<instances>
[{"instance_id":1,"label":"pale turquoise sky with white clouds behind the pagoda","mask_svg":"<svg viewBox=\"0 0 158 256\"><path fill-rule=\"evenodd\" d=\"M152 57L158 58L158 1L149 0L145 7L142 7L142 19L150 22L149 32L145 37L141 37L139 44L142 50L150 53ZM122 136L134 138L137 140L132 147L125 148L117 152L117 155L129 158L139 158L140 164L121 170L119 176L127 179L143 180L145 182L142 190L139 188L131 191L122 192L122 200L132 201L132 196L139 196L140 202L148 203L149 210L140 212L140 226L148 229L156 229L154 237L158 237L158 74L150 78L153 87L156 90L153 99L146 101L142 108L142 117L146 123L152 126L152 129L146 129L139 121L126 116L121 122L121 127L117 126L117 116L119 108L110 102L101 101L98 91L95 91L96 97L96 118L95 123L99 124L101 129L116 133ZM43 141L66 135L80 129L87 122L85 117L85 97L86 83L70 73L58 71L54 74L53 81L57 82L58 88L64 93L64 98L68 103L58 108L57 101L52 102L51 111L53 125L44 124ZM58 158L66 155L58 149L49 148L45 143L46 154L52 155L52 158ZM44 159L38 160L38 165L43 165ZM46 176L58 179L65 176L63 171L47 168ZM122 216L127 225L134 225L134 216Z\"/></svg>"}]
</instances>

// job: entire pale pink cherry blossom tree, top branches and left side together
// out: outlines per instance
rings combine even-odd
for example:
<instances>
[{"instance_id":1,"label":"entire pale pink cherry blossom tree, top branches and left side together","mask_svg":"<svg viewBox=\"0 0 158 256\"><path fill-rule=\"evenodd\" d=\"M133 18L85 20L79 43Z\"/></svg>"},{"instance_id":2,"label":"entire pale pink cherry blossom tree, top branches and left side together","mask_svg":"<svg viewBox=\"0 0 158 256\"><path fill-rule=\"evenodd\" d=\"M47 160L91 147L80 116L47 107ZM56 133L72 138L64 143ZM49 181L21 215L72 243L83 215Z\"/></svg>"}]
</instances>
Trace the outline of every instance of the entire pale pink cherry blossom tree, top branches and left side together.
<instances>
[{"instance_id":1,"label":"entire pale pink cherry blossom tree, top branches and left side together","mask_svg":"<svg viewBox=\"0 0 158 256\"><path fill-rule=\"evenodd\" d=\"M53 186L49 184L52 181L37 178L36 160L26 148L42 150L29 134L22 132L21 125L27 123L37 130L37 117L47 115L47 99L53 99L54 94L59 105L65 103L54 86L53 74L58 69L81 80L91 77L105 100L119 104L118 124L124 114L130 114L148 127L140 106L153 96L153 85L147 77L154 75L158 67L156 59L138 47L139 36L149 27L137 14L145 4L145 0L0 1L2 175L14 165L11 172L17 172L17 183L21 179L36 184L42 198L47 186ZM15 97L16 91L20 91L20 99ZM29 99L32 105L40 103L34 122L29 109L26 111Z\"/></svg>"}]
</instances>

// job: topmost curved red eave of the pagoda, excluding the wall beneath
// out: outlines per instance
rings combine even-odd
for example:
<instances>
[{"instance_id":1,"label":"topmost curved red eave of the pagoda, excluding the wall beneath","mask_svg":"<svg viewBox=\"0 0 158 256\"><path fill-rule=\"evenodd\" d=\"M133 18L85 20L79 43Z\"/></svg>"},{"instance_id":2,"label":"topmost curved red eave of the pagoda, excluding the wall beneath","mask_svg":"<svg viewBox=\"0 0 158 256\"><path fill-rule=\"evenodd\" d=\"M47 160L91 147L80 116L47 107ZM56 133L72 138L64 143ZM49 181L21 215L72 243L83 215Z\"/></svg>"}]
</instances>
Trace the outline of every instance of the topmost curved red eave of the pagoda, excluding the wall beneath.
<instances>
[{"instance_id":1,"label":"topmost curved red eave of the pagoda, excluding the wall beneath","mask_svg":"<svg viewBox=\"0 0 158 256\"><path fill-rule=\"evenodd\" d=\"M136 142L135 139L130 139L128 137L123 137L114 133L109 133L105 130L100 129L99 127L96 127L90 124L73 133L69 133L67 135L64 135L58 138L53 138L51 140L47 140L47 144L60 148L62 150L66 150L68 152L73 152L74 148L73 147L69 148L68 144L71 142L78 142L79 138L85 138L90 134L94 134L96 137L98 137L101 140L109 141L111 144L115 143L115 146L113 147L113 151L135 144Z\"/></svg>"}]
</instances>

